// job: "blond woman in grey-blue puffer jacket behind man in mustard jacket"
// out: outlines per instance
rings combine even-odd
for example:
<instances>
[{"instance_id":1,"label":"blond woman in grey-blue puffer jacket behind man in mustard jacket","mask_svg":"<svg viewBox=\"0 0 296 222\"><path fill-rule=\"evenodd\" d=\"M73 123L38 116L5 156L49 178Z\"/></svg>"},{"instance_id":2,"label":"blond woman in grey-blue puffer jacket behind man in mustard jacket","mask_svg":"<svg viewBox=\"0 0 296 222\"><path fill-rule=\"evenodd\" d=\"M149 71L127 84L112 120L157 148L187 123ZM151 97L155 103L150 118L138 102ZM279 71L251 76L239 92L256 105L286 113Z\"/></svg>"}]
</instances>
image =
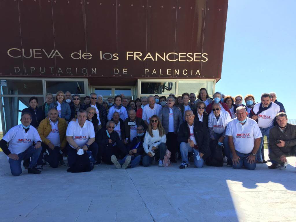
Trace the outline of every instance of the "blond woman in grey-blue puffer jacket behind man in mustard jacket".
<instances>
[{"instance_id":1,"label":"blond woman in grey-blue puffer jacket behind man in mustard jacket","mask_svg":"<svg viewBox=\"0 0 296 222\"><path fill-rule=\"evenodd\" d=\"M71 118L70 105L65 102L65 94L63 91L58 91L55 97L56 101L49 105L49 109L56 108L59 114L59 118L64 118L69 122Z\"/></svg>"}]
</instances>

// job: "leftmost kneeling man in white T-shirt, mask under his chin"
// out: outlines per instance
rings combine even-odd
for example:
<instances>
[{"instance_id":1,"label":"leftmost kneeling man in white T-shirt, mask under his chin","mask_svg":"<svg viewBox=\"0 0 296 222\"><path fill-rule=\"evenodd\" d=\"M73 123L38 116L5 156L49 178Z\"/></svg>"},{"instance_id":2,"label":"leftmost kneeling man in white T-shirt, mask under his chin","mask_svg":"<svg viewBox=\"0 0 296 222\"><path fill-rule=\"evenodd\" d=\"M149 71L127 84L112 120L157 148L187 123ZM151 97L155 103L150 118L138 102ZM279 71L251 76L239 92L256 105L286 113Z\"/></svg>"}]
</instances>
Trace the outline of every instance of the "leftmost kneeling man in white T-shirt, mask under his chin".
<instances>
[{"instance_id":1,"label":"leftmost kneeling man in white T-shirt, mask under his chin","mask_svg":"<svg viewBox=\"0 0 296 222\"><path fill-rule=\"evenodd\" d=\"M40 136L37 130L30 126L32 122L30 113L22 113L20 121L22 124L12 127L4 135L0 141L0 147L9 158L8 163L13 176L19 176L22 173L21 162L30 157L28 173L39 174L41 171L36 169L36 164L42 149ZM9 147L7 147L8 142Z\"/></svg>"}]
</instances>

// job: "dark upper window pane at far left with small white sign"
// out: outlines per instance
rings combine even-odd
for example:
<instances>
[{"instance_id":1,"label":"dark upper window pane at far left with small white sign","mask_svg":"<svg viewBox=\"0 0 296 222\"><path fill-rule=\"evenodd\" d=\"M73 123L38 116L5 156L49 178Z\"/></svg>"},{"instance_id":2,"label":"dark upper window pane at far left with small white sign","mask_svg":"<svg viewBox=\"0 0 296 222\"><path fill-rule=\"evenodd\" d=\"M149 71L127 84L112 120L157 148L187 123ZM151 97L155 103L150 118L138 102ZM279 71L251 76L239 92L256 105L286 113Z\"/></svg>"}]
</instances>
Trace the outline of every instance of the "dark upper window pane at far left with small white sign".
<instances>
[{"instance_id":1,"label":"dark upper window pane at far left with small white sign","mask_svg":"<svg viewBox=\"0 0 296 222\"><path fill-rule=\"evenodd\" d=\"M43 95L42 80L7 79L1 86L2 95Z\"/></svg>"}]
</instances>

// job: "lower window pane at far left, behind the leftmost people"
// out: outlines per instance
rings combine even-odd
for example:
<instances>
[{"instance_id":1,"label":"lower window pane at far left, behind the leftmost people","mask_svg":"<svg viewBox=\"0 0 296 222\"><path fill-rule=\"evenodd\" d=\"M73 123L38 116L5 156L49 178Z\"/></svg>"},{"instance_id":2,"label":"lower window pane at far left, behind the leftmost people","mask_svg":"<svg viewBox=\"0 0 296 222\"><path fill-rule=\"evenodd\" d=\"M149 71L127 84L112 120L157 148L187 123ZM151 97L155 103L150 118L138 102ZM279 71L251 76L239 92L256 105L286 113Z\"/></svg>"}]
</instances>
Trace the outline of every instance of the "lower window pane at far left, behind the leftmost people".
<instances>
[{"instance_id":1,"label":"lower window pane at far left, behind the leftmost people","mask_svg":"<svg viewBox=\"0 0 296 222\"><path fill-rule=\"evenodd\" d=\"M38 98L38 107L44 104L43 97ZM6 132L20 124L22 110L29 107L30 97L2 97L4 128Z\"/></svg>"}]
</instances>

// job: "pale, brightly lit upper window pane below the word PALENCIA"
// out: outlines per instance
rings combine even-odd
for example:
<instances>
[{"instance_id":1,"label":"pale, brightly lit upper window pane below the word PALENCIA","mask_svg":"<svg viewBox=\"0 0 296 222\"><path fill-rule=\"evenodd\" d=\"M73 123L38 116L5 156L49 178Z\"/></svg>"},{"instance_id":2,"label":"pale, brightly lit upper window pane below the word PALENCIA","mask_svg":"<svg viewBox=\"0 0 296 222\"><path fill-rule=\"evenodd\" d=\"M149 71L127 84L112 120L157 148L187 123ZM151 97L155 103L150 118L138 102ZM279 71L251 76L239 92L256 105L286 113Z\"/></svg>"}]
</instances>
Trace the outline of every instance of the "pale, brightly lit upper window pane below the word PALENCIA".
<instances>
[{"instance_id":1,"label":"pale, brightly lit upper window pane below the word PALENCIA","mask_svg":"<svg viewBox=\"0 0 296 222\"><path fill-rule=\"evenodd\" d=\"M198 95L200 88L206 88L209 95L213 94L213 81L178 81L178 95L182 95L183 93L194 93Z\"/></svg>"}]
</instances>

